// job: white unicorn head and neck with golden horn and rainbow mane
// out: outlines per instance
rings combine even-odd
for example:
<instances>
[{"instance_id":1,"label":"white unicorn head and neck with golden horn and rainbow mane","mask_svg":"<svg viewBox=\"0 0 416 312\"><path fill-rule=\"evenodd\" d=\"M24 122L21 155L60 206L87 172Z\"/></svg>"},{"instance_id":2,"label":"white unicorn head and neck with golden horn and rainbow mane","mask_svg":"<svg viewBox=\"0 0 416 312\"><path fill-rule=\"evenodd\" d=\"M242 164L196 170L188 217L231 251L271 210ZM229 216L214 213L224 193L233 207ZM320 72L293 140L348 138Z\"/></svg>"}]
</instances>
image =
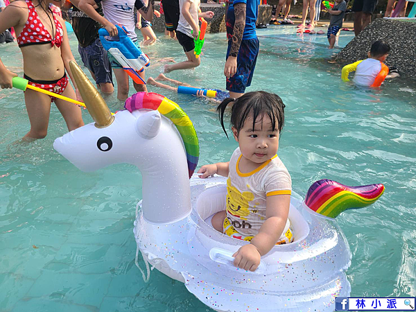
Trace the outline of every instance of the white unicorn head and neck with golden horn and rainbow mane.
<instances>
[{"instance_id":1,"label":"white unicorn head and neck with golden horn and rainbow mane","mask_svg":"<svg viewBox=\"0 0 416 312\"><path fill-rule=\"evenodd\" d=\"M95 123L55 140L53 148L85 172L128 163L143 178L144 218L171 223L191 212L189 177L199 146L187 114L159 94L140 92L112 115L83 71L71 63L80 93ZM82 86L82 87L81 87Z\"/></svg>"}]
</instances>

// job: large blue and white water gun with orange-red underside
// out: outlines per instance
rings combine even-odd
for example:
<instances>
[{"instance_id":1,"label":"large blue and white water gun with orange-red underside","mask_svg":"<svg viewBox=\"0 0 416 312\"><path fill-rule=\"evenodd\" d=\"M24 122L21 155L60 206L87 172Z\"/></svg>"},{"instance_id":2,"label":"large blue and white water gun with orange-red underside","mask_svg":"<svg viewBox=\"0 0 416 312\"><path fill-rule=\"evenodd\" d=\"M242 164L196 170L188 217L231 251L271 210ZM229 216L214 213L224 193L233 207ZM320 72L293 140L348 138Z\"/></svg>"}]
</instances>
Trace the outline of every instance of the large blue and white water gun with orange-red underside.
<instances>
[{"instance_id":1,"label":"large blue and white water gun with orange-red underside","mask_svg":"<svg viewBox=\"0 0 416 312\"><path fill-rule=\"evenodd\" d=\"M98 30L101 43L105 50L107 50L116 60L121 64L124 71L132 78L135 83L146 85L146 82L140 77L139 73L144 70L144 67L150 65L150 60L140 48L138 48L127 35L127 30L116 25L119 31L119 40L107 40L105 36L110 36L105 28Z\"/></svg>"}]
</instances>

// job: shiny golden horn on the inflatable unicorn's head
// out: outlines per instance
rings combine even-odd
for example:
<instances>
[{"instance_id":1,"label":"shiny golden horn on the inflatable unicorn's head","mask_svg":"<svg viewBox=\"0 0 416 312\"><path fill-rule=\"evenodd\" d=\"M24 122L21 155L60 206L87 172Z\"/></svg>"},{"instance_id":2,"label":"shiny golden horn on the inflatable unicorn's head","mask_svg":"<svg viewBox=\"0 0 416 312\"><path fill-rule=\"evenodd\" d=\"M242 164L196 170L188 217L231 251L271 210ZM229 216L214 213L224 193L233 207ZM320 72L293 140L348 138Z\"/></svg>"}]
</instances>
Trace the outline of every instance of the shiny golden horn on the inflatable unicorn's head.
<instances>
[{"instance_id":1,"label":"shiny golden horn on the inflatable unicorn's head","mask_svg":"<svg viewBox=\"0 0 416 312\"><path fill-rule=\"evenodd\" d=\"M98 93L97 89L92 85L91 81L85 76L85 73L76 62L70 61L69 67L71 67L71 73L76 81L78 90L80 90L81 96L83 96L88 112L96 122L95 126L97 128L105 128L111 125L114 121L114 116L112 116L103 97Z\"/></svg>"}]
</instances>

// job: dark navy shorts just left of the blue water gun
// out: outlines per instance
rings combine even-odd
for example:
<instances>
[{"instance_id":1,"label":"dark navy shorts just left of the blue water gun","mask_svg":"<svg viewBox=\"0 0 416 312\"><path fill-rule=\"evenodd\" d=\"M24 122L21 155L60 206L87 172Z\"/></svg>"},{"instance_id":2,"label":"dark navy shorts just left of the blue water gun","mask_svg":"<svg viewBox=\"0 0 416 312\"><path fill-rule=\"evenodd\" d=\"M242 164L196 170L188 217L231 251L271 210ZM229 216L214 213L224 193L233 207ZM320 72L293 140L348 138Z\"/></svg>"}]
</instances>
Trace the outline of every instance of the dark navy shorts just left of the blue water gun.
<instances>
[{"instance_id":1,"label":"dark navy shorts just left of the blue water gun","mask_svg":"<svg viewBox=\"0 0 416 312\"><path fill-rule=\"evenodd\" d=\"M81 55L84 66L94 73L96 84L112 83L112 71L107 51L103 48L100 38L97 38L89 46L78 45L78 52Z\"/></svg>"}]
</instances>

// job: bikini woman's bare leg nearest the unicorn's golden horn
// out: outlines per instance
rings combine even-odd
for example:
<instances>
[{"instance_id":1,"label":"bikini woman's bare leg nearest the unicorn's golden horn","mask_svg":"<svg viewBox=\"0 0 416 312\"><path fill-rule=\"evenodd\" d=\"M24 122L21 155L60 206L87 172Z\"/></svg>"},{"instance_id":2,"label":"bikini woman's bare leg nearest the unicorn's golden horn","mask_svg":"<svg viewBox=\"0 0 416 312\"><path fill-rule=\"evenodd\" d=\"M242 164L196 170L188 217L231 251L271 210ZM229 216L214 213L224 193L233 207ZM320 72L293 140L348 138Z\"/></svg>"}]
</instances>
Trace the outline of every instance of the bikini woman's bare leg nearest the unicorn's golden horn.
<instances>
[{"instance_id":1,"label":"bikini woman's bare leg nearest the unicorn's golden horn","mask_svg":"<svg viewBox=\"0 0 416 312\"><path fill-rule=\"evenodd\" d=\"M75 91L73 91L70 84L68 84L67 88L64 89L62 95L67 96L67 98L76 99ZM67 123L69 131L80 128L84 125L81 107L73 103L69 103L68 101L60 100L59 98L55 99L55 105L58 107L62 117L64 117L64 121Z\"/></svg>"}]
</instances>

